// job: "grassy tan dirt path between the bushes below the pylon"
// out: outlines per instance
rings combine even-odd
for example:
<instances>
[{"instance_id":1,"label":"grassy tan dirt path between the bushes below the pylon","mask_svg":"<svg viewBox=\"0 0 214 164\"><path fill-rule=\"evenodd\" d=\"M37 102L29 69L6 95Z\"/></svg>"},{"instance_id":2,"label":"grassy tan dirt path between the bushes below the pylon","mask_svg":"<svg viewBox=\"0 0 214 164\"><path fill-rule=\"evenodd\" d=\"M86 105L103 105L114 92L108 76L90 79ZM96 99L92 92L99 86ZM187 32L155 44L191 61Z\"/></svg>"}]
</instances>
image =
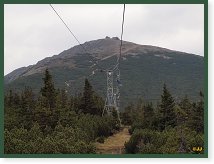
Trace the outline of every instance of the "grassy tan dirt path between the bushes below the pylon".
<instances>
[{"instance_id":1,"label":"grassy tan dirt path between the bushes below the pylon","mask_svg":"<svg viewBox=\"0 0 214 164\"><path fill-rule=\"evenodd\" d=\"M97 154L122 154L124 151L124 143L130 139L128 127L105 139L105 142L96 143Z\"/></svg>"}]
</instances>

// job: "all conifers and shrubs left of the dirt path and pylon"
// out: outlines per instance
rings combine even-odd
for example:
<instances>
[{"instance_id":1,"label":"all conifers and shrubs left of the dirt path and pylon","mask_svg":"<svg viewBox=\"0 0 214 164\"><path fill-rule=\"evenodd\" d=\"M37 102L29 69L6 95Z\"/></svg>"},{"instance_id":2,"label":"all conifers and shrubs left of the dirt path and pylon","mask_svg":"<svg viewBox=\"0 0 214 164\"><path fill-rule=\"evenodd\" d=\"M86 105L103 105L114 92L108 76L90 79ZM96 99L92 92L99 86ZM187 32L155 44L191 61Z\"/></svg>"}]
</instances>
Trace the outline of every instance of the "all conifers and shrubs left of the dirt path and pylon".
<instances>
[{"instance_id":1,"label":"all conifers and shrubs left of the dirt path and pylon","mask_svg":"<svg viewBox=\"0 0 214 164\"><path fill-rule=\"evenodd\" d=\"M38 97L31 88L5 96L5 153L95 153L95 140L118 126L113 116L101 117L104 101L85 80L83 94L56 89L48 70Z\"/></svg>"}]
</instances>

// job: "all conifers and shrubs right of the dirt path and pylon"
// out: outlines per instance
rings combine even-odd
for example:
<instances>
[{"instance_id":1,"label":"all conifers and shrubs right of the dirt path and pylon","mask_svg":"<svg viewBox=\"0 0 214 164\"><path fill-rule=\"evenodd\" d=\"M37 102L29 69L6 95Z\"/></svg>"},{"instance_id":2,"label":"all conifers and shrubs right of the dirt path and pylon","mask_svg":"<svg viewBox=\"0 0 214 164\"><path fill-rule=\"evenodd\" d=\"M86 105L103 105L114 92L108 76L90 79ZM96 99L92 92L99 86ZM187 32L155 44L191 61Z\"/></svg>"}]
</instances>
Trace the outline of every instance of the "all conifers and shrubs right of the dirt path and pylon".
<instances>
[{"instance_id":1,"label":"all conifers and shrubs right of the dirt path and pylon","mask_svg":"<svg viewBox=\"0 0 214 164\"><path fill-rule=\"evenodd\" d=\"M161 103L156 108L140 100L136 106L127 106L121 114L122 123L131 125L132 136L125 143L126 153L203 153L203 113L201 92L198 102L190 102L185 96L175 103L164 84Z\"/></svg>"}]
</instances>

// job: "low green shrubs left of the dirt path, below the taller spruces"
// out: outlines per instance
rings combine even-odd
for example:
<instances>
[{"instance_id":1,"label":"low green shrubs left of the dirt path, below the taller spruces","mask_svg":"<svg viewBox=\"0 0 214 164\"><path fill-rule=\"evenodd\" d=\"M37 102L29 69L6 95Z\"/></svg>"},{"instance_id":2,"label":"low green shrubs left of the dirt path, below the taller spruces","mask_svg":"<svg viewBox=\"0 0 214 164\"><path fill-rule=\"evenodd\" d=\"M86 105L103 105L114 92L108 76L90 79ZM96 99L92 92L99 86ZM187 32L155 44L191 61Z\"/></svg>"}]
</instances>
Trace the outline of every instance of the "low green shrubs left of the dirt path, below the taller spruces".
<instances>
[{"instance_id":1,"label":"low green shrubs left of the dirt path, below the taller spruces","mask_svg":"<svg viewBox=\"0 0 214 164\"><path fill-rule=\"evenodd\" d=\"M95 153L92 144L95 139L104 143L104 138L114 131L112 117L70 114L72 118L64 117L54 129L46 126L41 130L38 123L29 130L23 127L5 129L5 153Z\"/></svg>"}]
</instances>

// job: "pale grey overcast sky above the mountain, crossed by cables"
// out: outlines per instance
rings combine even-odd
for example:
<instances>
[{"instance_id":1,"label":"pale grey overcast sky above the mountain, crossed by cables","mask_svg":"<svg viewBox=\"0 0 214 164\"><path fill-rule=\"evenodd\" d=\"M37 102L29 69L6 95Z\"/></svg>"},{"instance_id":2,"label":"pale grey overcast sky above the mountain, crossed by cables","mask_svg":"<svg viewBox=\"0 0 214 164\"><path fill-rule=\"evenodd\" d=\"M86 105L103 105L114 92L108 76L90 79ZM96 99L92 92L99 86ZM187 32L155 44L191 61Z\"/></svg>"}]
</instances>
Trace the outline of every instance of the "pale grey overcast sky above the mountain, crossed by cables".
<instances>
[{"instance_id":1,"label":"pale grey overcast sky above the mountain, crossed by cables","mask_svg":"<svg viewBox=\"0 0 214 164\"><path fill-rule=\"evenodd\" d=\"M53 5L81 43L120 36L123 5ZM124 40L204 56L204 6L126 5ZM49 5L4 5L4 74L77 45Z\"/></svg>"}]
</instances>

